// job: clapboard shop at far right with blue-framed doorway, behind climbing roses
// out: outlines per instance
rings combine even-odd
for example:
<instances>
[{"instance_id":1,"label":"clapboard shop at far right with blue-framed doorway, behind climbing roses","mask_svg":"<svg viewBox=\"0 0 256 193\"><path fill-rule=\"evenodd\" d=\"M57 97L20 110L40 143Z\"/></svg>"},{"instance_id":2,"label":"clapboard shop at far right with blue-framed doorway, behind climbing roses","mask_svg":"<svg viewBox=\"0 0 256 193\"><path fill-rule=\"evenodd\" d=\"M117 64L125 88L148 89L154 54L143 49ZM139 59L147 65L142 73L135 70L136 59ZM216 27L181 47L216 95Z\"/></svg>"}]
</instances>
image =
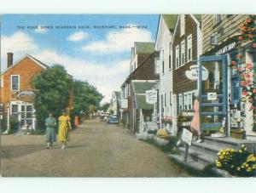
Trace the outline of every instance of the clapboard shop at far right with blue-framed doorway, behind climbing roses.
<instances>
[{"instance_id":1,"label":"clapboard shop at far right with blue-framed doorway, behind climbing roses","mask_svg":"<svg viewBox=\"0 0 256 193\"><path fill-rule=\"evenodd\" d=\"M202 118L201 122L203 124L207 122L207 119L210 119L218 126L219 122L224 120L225 133L228 136L236 136L236 133L242 129L246 131L247 139L256 139L255 111L253 114L250 109L252 104L242 94L238 70L230 67L237 63L240 69L246 69L247 64L252 64L255 72L256 54L255 48L252 47L253 41L244 42L242 41L243 37L240 37L242 26L247 20L250 20L248 16L246 14L202 15L204 57L201 60L201 66L207 68L209 79L207 81L201 80L201 95L207 94L207 92L219 94L217 102L221 107L213 106L212 109L208 108L207 110L205 107L201 107L201 110L224 110L225 112L219 114L219 118L212 114L212 120L208 115L208 118ZM236 56L239 56L239 60L236 60ZM253 71L247 76L254 82L255 88ZM226 99L221 94L226 96ZM207 103L207 101L205 102ZM202 129L207 130L203 126Z\"/></svg>"}]
</instances>

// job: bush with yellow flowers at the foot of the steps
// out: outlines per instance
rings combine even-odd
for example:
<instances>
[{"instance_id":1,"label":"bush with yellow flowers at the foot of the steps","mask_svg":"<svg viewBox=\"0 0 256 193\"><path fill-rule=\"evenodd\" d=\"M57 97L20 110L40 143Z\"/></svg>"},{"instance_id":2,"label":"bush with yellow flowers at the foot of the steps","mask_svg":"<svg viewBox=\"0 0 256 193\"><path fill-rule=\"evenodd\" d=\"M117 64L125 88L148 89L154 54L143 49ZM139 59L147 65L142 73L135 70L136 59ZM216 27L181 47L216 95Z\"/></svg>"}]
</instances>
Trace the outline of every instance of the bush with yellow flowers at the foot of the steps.
<instances>
[{"instance_id":1,"label":"bush with yellow flowers at the foot of the steps","mask_svg":"<svg viewBox=\"0 0 256 193\"><path fill-rule=\"evenodd\" d=\"M216 167L236 176L253 176L256 170L256 158L247 151L245 145L241 145L240 150L220 150Z\"/></svg>"}]
</instances>

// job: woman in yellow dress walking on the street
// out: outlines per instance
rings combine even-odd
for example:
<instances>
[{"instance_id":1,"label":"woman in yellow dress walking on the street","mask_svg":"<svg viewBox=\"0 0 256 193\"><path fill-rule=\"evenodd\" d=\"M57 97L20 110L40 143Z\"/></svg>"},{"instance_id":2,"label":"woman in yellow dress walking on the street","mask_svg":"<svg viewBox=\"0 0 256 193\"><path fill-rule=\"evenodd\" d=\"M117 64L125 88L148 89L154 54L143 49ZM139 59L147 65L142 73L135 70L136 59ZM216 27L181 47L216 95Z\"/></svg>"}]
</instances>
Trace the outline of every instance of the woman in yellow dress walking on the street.
<instances>
[{"instance_id":1,"label":"woman in yellow dress walking on the street","mask_svg":"<svg viewBox=\"0 0 256 193\"><path fill-rule=\"evenodd\" d=\"M67 141L70 140L70 130L70 117L67 115L66 111L62 111L62 116L59 117L59 140L62 142L61 149L65 149L67 147Z\"/></svg>"}]
</instances>

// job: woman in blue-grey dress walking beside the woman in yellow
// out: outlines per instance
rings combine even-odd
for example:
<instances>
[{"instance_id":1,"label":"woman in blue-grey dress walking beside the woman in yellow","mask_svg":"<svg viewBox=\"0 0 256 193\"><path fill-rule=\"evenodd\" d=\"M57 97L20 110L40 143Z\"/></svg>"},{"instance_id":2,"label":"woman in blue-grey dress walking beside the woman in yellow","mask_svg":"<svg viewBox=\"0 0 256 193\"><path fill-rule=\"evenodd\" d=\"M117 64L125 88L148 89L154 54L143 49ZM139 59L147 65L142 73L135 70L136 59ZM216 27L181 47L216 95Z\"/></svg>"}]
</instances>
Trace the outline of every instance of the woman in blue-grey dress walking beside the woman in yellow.
<instances>
[{"instance_id":1,"label":"woman in blue-grey dress walking beside the woman in yellow","mask_svg":"<svg viewBox=\"0 0 256 193\"><path fill-rule=\"evenodd\" d=\"M56 120L51 113L49 113L49 117L45 119L45 126L46 126L45 140L47 142L47 149L51 149L53 143L56 141L56 131L55 131Z\"/></svg>"}]
</instances>

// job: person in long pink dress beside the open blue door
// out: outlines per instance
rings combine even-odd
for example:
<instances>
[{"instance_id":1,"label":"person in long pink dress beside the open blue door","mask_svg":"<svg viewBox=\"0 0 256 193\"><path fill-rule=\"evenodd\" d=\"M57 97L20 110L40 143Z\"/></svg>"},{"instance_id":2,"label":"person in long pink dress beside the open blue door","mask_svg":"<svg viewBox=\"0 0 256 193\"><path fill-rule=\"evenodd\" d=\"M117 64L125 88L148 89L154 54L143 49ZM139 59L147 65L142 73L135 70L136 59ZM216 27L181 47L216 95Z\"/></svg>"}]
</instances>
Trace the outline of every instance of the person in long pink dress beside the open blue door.
<instances>
[{"instance_id":1,"label":"person in long pink dress beside the open blue door","mask_svg":"<svg viewBox=\"0 0 256 193\"><path fill-rule=\"evenodd\" d=\"M190 124L190 128L192 132L197 136L196 143L201 143L201 129L200 129L200 115L199 115L199 110L200 110L200 101L198 95L195 96L195 103L194 103L194 111L195 114L193 116L192 122Z\"/></svg>"}]
</instances>

